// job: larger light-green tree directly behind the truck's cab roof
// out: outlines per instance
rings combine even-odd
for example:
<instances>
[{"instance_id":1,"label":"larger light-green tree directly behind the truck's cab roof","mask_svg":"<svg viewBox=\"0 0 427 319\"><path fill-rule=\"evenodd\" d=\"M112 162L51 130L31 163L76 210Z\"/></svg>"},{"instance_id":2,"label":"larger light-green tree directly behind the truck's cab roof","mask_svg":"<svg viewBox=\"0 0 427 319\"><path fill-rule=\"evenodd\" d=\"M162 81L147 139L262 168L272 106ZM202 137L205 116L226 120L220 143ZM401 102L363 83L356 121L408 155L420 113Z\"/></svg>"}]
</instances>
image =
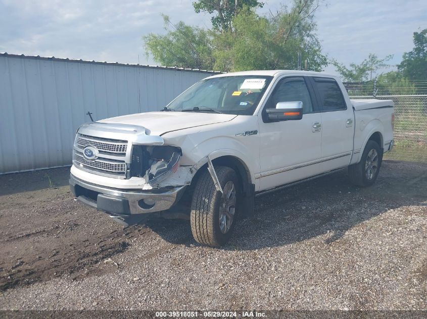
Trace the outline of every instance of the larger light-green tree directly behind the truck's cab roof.
<instances>
[{"instance_id":1,"label":"larger light-green tree directly behind the truck's cab roof","mask_svg":"<svg viewBox=\"0 0 427 319\"><path fill-rule=\"evenodd\" d=\"M215 69L295 70L300 52L308 70L321 71L327 58L321 54L315 34L313 14L317 8L313 0L296 0L292 8L283 7L271 17L242 11L232 20L232 32L214 36Z\"/></svg>"}]
</instances>

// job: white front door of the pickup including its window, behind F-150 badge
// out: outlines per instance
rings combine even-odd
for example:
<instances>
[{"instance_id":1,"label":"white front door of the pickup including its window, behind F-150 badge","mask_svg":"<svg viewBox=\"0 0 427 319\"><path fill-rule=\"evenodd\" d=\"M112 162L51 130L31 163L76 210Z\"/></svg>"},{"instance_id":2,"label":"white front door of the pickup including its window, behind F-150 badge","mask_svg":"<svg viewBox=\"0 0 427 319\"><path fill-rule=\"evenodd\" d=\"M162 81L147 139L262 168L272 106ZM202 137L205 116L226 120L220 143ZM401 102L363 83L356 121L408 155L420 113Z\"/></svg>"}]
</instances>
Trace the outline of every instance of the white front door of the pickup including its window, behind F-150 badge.
<instances>
[{"instance_id":1,"label":"white front door of the pickup including its window, behind F-150 badge","mask_svg":"<svg viewBox=\"0 0 427 319\"><path fill-rule=\"evenodd\" d=\"M266 109L279 102L303 103L298 120L271 121ZM258 116L260 132L260 189L265 190L321 173L321 116L314 92L304 77L278 81Z\"/></svg>"}]
</instances>

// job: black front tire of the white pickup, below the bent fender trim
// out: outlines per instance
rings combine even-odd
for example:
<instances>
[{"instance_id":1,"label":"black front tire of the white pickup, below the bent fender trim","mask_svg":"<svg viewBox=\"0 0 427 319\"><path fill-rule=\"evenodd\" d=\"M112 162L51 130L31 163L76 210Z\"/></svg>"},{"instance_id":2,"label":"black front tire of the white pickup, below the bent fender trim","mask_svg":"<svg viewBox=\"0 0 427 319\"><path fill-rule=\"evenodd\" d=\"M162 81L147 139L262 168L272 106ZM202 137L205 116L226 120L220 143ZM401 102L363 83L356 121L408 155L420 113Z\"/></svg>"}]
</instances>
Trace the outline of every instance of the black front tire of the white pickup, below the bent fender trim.
<instances>
[{"instance_id":1,"label":"black front tire of the white pickup, below the bent fender trim","mask_svg":"<svg viewBox=\"0 0 427 319\"><path fill-rule=\"evenodd\" d=\"M218 247L225 244L228 239L230 239L233 232L236 214L240 204L240 185L239 178L232 168L216 166L215 171L218 176L219 183L224 189L224 194L224 187L229 181L234 185L234 215L231 219L229 229L226 230L225 233L221 231L219 219L220 216L223 217L223 214L220 214L220 203L223 194L216 189L212 176L207 169L201 172L201 175L196 181L190 222L194 239L196 239L197 242L208 246ZM229 185L230 183L228 183L228 186ZM222 201L224 201L224 199L222 199ZM224 223L221 224L221 227L225 230Z\"/></svg>"}]
</instances>

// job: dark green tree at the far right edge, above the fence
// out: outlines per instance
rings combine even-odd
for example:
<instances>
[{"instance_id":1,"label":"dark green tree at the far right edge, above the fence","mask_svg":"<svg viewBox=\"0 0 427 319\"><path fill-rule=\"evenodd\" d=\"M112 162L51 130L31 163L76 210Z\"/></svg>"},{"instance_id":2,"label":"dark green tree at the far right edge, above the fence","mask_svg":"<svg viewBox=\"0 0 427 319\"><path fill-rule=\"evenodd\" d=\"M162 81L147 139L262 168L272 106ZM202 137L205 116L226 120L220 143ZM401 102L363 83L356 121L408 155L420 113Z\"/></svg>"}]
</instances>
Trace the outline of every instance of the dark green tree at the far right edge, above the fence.
<instances>
[{"instance_id":1,"label":"dark green tree at the far right edge, above the fence","mask_svg":"<svg viewBox=\"0 0 427 319\"><path fill-rule=\"evenodd\" d=\"M414 32L413 39L414 48L403 53L398 70L410 80L427 80L427 29Z\"/></svg>"}]
</instances>

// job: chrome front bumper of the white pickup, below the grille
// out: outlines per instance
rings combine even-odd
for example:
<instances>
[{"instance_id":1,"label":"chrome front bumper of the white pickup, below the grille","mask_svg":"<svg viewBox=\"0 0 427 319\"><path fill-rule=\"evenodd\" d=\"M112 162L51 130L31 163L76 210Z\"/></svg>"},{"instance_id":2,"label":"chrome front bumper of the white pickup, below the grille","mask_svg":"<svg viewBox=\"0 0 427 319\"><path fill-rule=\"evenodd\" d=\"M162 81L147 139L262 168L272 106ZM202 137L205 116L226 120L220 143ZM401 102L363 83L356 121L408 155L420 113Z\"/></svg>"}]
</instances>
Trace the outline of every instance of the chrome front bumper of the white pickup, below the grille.
<instances>
[{"instance_id":1,"label":"chrome front bumper of the white pickup, below the grille","mask_svg":"<svg viewBox=\"0 0 427 319\"><path fill-rule=\"evenodd\" d=\"M154 213L167 210L179 201L185 185L150 192L123 190L85 182L70 174L70 188L82 203L107 213L130 216L132 214ZM150 205L143 200L150 200ZM153 203L153 204L152 204Z\"/></svg>"}]
</instances>

